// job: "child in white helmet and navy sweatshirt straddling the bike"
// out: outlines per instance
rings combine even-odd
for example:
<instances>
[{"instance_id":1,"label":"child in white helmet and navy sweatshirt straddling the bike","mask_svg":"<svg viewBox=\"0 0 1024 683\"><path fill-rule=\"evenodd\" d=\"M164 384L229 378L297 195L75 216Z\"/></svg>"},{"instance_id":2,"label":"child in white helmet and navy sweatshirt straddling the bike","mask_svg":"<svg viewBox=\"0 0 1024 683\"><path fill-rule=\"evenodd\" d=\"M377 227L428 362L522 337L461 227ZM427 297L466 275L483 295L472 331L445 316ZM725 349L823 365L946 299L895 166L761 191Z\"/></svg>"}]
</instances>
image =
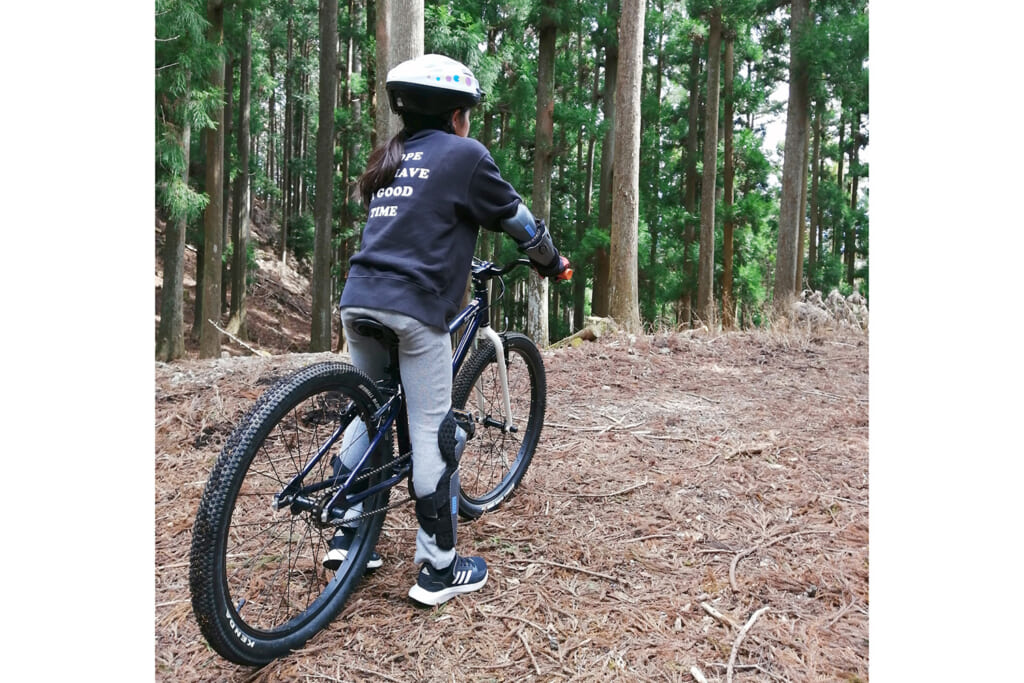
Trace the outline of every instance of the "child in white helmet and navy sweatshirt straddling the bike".
<instances>
[{"instance_id":1,"label":"child in white helmet and navy sweatshirt straddling the bike","mask_svg":"<svg viewBox=\"0 0 1024 683\"><path fill-rule=\"evenodd\" d=\"M466 433L452 413L447 331L462 302L479 226L507 232L543 276L558 278L568 260L544 221L502 178L486 147L468 137L470 110L484 97L468 68L426 54L388 72L386 88L403 127L371 154L359 178L369 217L350 260L341 319L352 362L374 380L384 376L387 352L359 335L352 321L373 317L398 336L420 524L415 562L421 569L409 595L438 605L487 580L483 558L455 550ZM352 533L339 527L325 565L344 560ZM374 553L368 566L380 564Z\"/></svg>"}]
</instances>

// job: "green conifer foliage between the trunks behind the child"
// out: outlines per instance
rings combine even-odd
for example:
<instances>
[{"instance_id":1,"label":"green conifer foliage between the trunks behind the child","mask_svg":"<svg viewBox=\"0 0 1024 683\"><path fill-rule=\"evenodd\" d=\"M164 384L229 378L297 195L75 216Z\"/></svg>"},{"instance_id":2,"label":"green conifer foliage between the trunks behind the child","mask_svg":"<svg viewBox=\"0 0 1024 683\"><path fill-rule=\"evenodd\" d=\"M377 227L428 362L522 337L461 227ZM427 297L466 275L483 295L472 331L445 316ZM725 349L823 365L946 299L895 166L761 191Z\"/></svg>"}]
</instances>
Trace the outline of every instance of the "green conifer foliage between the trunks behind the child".
<instances>
[{"instance_id":1,"label":"green conifer foliage between the trunks behind the child","mask_svg":"<svg viewBox=\"0 0 1024 683\"><path fill-rule=\"evenodd\" d=\"M225 6L223 45L212 44L206 35L204 0L155 0L156 6L156 186L161 212L184 218L187 239L199 244L202 230L197 221L208 198L201 190L202 177L182 177L187 170L202 170L203 131L213 126L212 116L223 106L223 95L210 87L212 65L221 52L241 54L245 35L243 12L252 14L252 105L250 110L253 148L249 173L258 202L272 208L272 220L286 200L289 202L288 249L296 257L312 254L313 218L310 202L315 197L314 145L317 125L318 33L317 3L314 0L243 0ZM683 323L674 321L676 304L688 294L695 294L697 240L686 243L686 227L697 225L703 210L697 205L684 207L687 169L696 161L696 173L702 171L705 118L707 101L708 31L707 12L712 6L722 10L723 26L733 40L735 52L734 117L720 120L720 130L727 126L734 132L735 196L731 207L719 203L716 211L716 272L722 271L723 221L734 224L733 297L743 325L762 323L761 311L767 305L774 276L774 252L778 216L778 181L781 158L767 148L766 124L784 120L784 93L788 78L790 12L770 0L688 0L687 2L648 3L645 26L645 59L642 86L642 121L638 229L640 304L648 327ZM373 115L371 95L375 67L374 27L368 28L368 4L342 3L339 14L339 53L341 87L345 87L349 54L360 57L361 72L348 79L352 101L335 111L338 133L335 161L336 178L334 215L337 227L333 239L338 253L355 248L365 216L352 199L352 187L343 187L343 178L351 183L365 168L372 150ZM350 15L360 9L360 15ZM536 91L538 77L539 27L551 22L557 27L555 59L555 131L551 178L552 197L549 227L556 244L573 262L575 279L587 284L586 304L594 286L596 253L607 250L609 236L598 228L601 154L604 133L609 126L603 115L603 81L606 48L614 45L616 17L609 13L607 0L575 0L545 3L542 0L429 0L424 7L425 51L440 52L460 59L474 71L487 98L473 116L472 133L482 139L486 126L492 154L503 176L519 194L529 200L534 180ZM843 265L848 232L855 236L857 269L855 287L866 295L868 282L868 210L866 160L852 165L852 144L863 150L866 139L868 94L867 3L866 0L822 0L812 6L814 23L798 49L807 56L815 101L825 103L825 136L821 145L823 177L820 179L817 209L823 227L824 244L814 267L808 266L807 281L816 289L846 287ZM358 19L358 20L356 20ZM351 51L347 49L351 40ZM289 45L291 41L291 45ZM691 73L694 45L699 61ZM289 59L289 52L291 58ZM272 68L271 68L272 63ZM237 72L236 72L237 74ZM697 84L690 91L691 79ZM656 88L660 87L660 96ZM240 97L240 79L232 80L231 101L236 110ZM286 97L290 94L290 99ZM271 122L270 99L273 96ZM784 95L783 95L784 96ZM700 105L697 121L698 148L687 150L688 114L691 98ZM285 140L285 108L289 106L295 130L289 144ZM852 138L850 122L861 119L860 137ZM720 117L723 116L720 113ZM232 127L239 114L232 114ZM271 126L272 123L272 126ZM187 124L187 126L186 126ZM838 132L844 126L843 148ZM185 148L183 135L190 129ZM225 140L228 158L236 144ZM721 142L720 142L721 144ZM593 163L590 163L590 154ZM840 159L845 177L838 182ZM272 159L272 163L271 163ZM345 164L347 163L347 167ZM718 153L719 188L722 186L724 154ZM234 163L237 166L237 162ZM294 185L284 185L288 169ZM227 177L237 174L229 162ZM850 178L860 178L860 193L851 209ZM301 189L300 189L301 182ZM607 188L605 188L607 191ZM588 197L589 195L589 197ZM589 201L589 209L588 209ZM810 203L810 200L809 200ZM810 207L808 207L810 210ZM489 238L489 234L486 236ZM837 241L837 238L839 240ZM483 242L481 240L481 242ZM834 243L839 244L833 255ZM486 240L488 250L496 249ZM280 248L280 247L279 247ZM225 246L225 255L230 245ZM518 255L511 240L497 244L498 258ZM493 258L494 253L487 253ZM346 264L347 265L347 264ZM335 264L339 287L344 265ZM518 278L524 276L520 273ZM515 280L510 281L510 288ZM566 329L566 312L573 302L571 287L557 286L559 309L551 308L553 336L571 332ZM554 288L551 288L554 290ZM716 294L721 296L721 279L716 280ZM511 297L511 294L508 295ZM552 299L554 301L554 299ZM521 302L506 301L515 324L523 315Z\"/></svg>"}]
</instances>

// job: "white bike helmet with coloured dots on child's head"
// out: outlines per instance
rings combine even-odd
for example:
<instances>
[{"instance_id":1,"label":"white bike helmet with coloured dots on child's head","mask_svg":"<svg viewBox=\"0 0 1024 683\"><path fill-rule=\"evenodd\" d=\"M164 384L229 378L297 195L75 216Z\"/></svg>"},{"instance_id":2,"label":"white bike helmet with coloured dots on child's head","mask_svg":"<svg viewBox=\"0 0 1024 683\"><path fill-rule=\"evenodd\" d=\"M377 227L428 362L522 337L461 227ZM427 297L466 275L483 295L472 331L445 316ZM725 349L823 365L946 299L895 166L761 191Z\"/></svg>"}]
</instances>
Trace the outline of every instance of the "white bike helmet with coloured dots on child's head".
<instances>
[{"instance_id":1,"label":"white bike helmet with coloured dots on child's head","mask_svg":"<svg viewBox=\"0 0 1024 683\"><path fill-rule=\"evenodd\" d=\"M442 54L402 61L387 73L386 87L395 114L442 115L474 106L484 97L473 72Z\"/></svg>"}]
</instances>

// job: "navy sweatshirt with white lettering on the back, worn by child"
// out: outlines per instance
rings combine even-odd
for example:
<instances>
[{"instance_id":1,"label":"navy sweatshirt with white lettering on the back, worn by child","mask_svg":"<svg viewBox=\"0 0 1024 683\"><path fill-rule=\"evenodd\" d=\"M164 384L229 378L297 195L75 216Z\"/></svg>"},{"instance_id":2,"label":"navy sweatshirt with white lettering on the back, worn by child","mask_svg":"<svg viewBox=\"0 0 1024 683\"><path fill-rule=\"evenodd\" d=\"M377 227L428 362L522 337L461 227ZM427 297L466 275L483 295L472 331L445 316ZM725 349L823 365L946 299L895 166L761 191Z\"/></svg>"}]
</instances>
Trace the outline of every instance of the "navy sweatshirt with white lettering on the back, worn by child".
<instances>
[{"instance_id":1,"label":"navy sweatshirt with white lettering on the back, worn by child","mask_svg":"<svg viewBox=\"0 0 1024 683\"><path fill-rule=\"evenodd\" d=\"M501 230L521 201L478 141L415 133L394 180L371 198L340 305L446 329L462 304L479 226Z\"/></svg>"}]
</instances>

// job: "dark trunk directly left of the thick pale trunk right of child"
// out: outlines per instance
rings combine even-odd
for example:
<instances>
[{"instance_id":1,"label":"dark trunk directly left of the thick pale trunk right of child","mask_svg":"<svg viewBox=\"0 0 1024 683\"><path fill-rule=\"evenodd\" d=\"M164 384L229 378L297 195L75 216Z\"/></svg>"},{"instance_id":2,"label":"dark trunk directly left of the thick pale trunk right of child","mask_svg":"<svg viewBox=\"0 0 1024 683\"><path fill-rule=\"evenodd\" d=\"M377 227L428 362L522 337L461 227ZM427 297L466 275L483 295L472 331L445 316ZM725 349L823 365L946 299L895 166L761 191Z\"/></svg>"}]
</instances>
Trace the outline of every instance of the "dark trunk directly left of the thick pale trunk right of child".
<instances>
[{"instance_id":1,"label":"dark trunk directly left of the thick pale trunk right of child","mask_svg":"<svg viewBox=\"0 0 1024 683\"><path fill-rule=\"evenodd\" d=\"M620 0L608 0L608 18L620 15ZM614 31L605 32L604 46L604 141L601 144L601 190L597 198L597 229L611 233L611 182L615 166L615 90L618 81L618 39ZM610 264L608 251L598 247L595 253L594 291L591 312L598 317L608 314Z\"/></svg>"}]
</instances>

